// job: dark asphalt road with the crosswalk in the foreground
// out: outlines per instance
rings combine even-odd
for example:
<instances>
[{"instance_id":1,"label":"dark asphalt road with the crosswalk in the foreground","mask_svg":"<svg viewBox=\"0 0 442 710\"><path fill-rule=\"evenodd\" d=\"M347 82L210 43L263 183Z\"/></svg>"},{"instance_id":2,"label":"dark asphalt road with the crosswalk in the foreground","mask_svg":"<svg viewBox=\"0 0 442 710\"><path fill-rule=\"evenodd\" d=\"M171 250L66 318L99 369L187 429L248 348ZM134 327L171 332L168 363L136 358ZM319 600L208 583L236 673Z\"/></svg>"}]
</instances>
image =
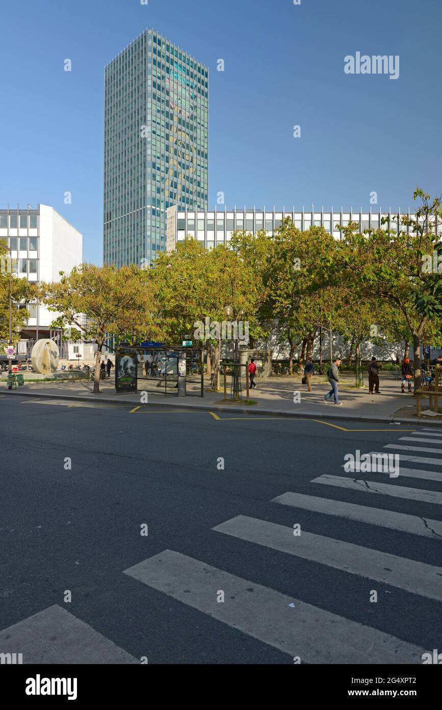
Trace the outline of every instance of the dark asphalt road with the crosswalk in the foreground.
<instances>
[{"instance_id":1,"label":"dark asphalt road with the crosswalk in the foreground","mask_svg":"<svg viewBox=\"0 0 442 710\"><path fill-rule=\"evenodd\" d=\"M442 650L442 436L8 396L0 412L0 652L293 664ZM356 449L433 463L346 474Z\"/></svg>"}]
</instances>

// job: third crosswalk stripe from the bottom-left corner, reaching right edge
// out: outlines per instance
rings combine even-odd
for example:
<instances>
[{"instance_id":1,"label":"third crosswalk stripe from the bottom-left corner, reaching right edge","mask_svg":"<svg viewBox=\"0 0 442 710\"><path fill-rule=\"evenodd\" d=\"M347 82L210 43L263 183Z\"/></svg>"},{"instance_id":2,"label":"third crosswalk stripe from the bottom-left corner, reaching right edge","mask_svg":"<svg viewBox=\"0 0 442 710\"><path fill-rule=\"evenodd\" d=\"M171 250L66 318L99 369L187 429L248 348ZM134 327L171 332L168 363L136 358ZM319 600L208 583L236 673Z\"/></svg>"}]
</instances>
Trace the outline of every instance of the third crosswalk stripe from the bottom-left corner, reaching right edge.
<instances>
[{"instance_id":1,"label":"third crosswalk stripe from the bottom-left corner, reaching right edge","mask_svg":"<svg viewBox=\"0 0 442 710\"><path fill-rule=\"evenodd\" d=\"M442 601L442 567L387 555L305 530L295 537L292 528L245 515L227 520L213 530Z\"/></svg>"}]
</instances>

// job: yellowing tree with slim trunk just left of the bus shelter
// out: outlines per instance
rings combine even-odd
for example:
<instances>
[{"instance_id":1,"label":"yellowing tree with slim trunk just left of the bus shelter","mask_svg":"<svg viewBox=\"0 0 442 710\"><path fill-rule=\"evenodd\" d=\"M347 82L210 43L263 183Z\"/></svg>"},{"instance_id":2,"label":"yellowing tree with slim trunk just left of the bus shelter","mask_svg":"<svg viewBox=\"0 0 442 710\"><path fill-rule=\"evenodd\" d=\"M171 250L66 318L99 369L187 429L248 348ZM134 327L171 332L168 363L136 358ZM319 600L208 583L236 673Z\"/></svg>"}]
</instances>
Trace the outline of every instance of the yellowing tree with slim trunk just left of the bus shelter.
<instances>
[{"instance_id":1,"label":"yellowing tree with slim trunk just left of the bus shelter","mask_svg":"<svg viewBox=\"0 0 442 710\"><path fill-rule=\"evenodd\" d=\"M70 328L70 339L96 344L94 393L99 393L101 349L108 334L117 344L159 337L151 275L133 264L120 269L82 264L60 276L56 283L40 285L40 300L60 314L52 327Z\"/></svg>"}]
</instances>

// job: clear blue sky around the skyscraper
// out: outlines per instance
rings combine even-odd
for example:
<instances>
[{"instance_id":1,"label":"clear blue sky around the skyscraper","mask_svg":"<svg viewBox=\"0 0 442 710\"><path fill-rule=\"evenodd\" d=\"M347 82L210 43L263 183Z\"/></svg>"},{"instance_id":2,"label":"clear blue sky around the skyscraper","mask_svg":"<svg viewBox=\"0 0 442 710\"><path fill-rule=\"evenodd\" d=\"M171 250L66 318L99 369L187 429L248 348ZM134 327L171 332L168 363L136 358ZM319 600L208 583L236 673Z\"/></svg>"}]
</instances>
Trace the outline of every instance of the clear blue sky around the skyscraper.
<instances>
[{"instance_id":1,"label":"clear blue sky around the skyscraper","mask_svg":"<svg viewBox=\"0 0 442 710\"><path fill-rule=\"evenodd\" d=\"M4 0L0 206L52 205L102 263L103 70L153 27L210 69L210 207L405 209L442 191L441 20L440 0ZM346 75L358 51L399 78Z\"/></svg>"}]
</instances>

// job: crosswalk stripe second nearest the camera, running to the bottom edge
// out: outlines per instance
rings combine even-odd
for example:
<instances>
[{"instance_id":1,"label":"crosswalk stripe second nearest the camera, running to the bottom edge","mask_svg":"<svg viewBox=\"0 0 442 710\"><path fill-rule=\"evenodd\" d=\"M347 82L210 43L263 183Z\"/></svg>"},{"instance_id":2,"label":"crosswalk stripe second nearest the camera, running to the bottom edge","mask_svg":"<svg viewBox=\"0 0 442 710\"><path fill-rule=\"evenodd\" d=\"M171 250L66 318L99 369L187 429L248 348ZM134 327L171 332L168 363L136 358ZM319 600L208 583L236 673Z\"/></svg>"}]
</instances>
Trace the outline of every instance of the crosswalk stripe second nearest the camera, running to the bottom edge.
<instances>
[{"instance_id":1,"label":"crosswalk stripe second nearest the camera, running to the bottom edge","mask_svg":"<svg viewBox=\"0 0 442 710\"><path fill-rule=\"evenodd\" d=\"M179 552L165 550L125 574L307 663L421 663L419 647Z\"/></svg>"}]
</instances>

